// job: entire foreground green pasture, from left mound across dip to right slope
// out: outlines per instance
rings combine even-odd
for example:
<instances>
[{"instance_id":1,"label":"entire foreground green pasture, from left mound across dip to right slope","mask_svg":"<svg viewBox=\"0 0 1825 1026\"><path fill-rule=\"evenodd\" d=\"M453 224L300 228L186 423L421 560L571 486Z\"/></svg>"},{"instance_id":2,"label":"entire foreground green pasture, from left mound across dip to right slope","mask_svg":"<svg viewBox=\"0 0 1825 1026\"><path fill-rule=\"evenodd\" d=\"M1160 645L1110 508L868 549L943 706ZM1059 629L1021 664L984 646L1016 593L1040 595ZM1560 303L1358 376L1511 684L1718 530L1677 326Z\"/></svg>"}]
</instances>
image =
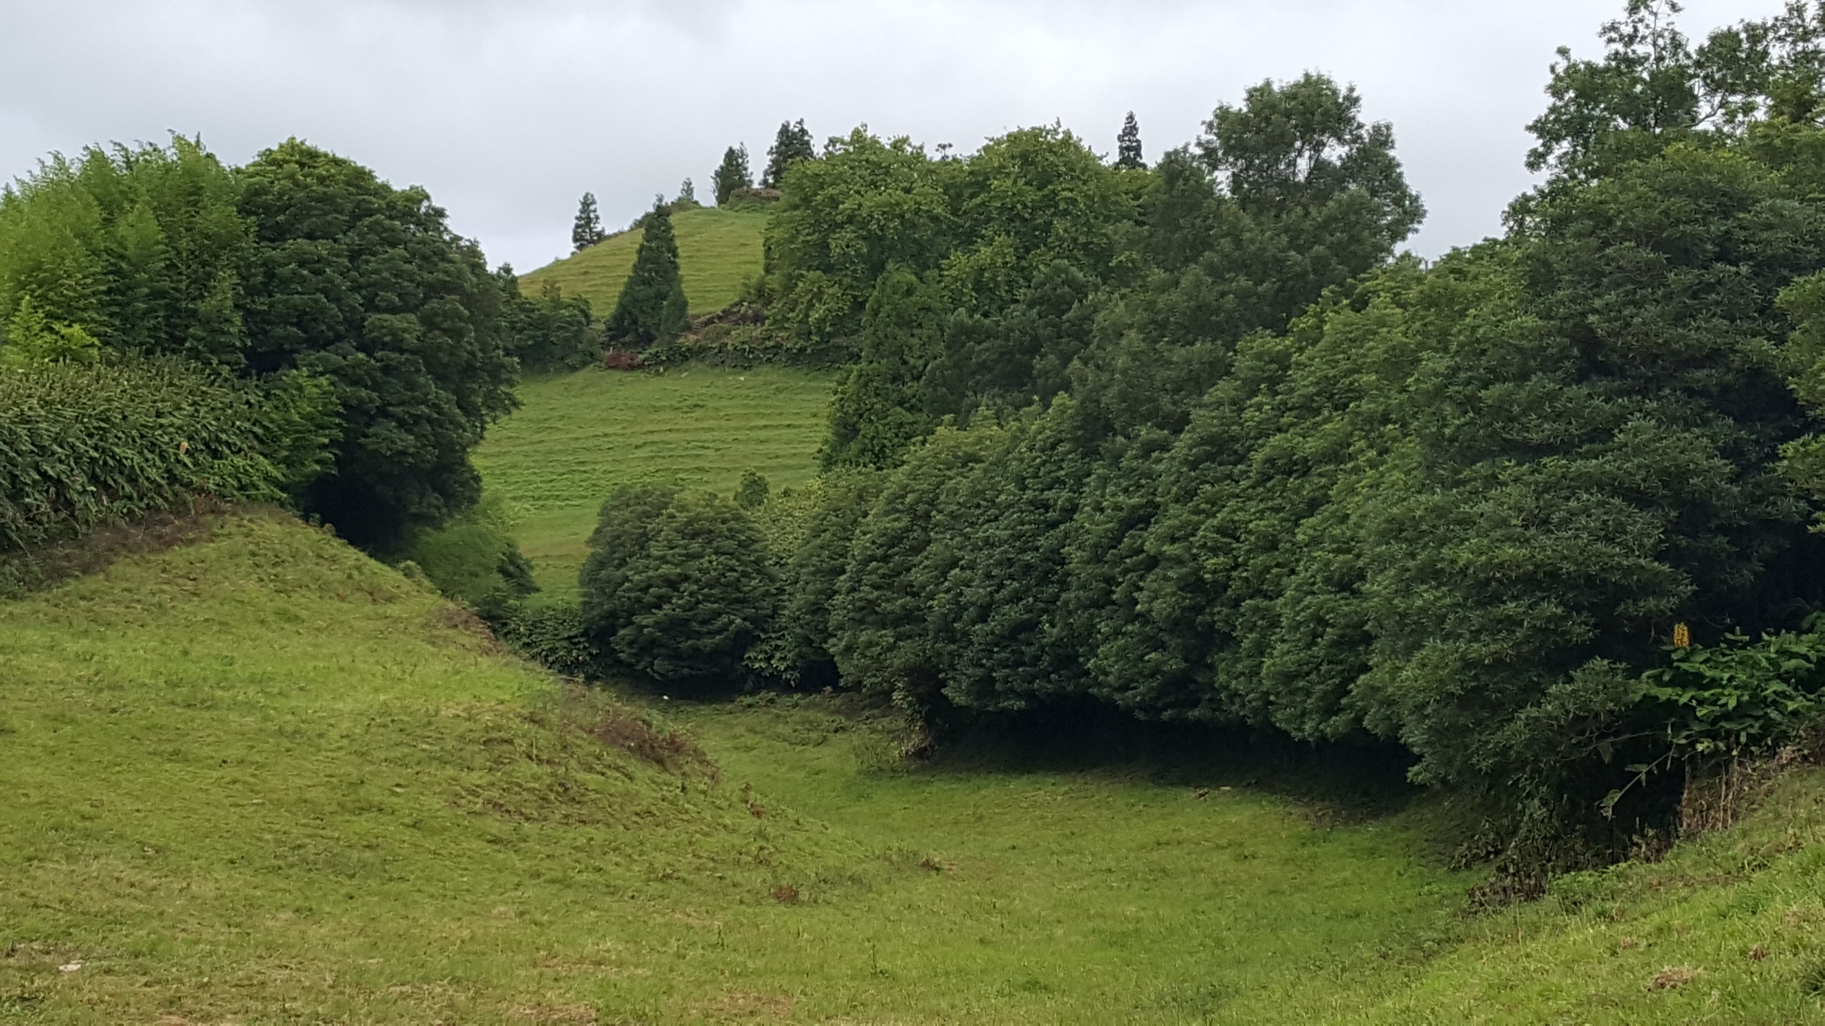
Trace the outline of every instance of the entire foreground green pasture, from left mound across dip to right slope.
<instances>
[{"instance_id":1,"label":"entire foreground green pasture, from left mound across dip to right slope","mask_svg":"<svg viewBox=\"0 0 1825 1026\"><path fill-rule=\"evenodd\" d=\"M4 1021L1825 1021L1820 770L1464 916L1424 811L564 692L277 515L0 602L0 696Z\"/></svg>"}]
</instances>

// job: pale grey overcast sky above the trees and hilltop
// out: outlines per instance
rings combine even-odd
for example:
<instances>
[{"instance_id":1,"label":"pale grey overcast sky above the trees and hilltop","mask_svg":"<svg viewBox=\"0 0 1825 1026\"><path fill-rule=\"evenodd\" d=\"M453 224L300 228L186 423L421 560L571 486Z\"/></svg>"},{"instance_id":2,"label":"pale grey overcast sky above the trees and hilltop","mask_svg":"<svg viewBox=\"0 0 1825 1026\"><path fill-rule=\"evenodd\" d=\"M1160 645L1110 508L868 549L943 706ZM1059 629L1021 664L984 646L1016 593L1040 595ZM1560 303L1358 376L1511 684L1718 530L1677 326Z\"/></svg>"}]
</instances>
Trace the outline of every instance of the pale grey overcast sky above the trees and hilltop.
<instances>
[{"instance_id":1,"label":"pale grey overcast sky above the trees and hilltop","mask_svg":"<svg viewBox=\"0 0 1825 1026\"><path fill-rule=\"evenodd\" d=\"M754 168L781 119L953 142L1064 122L1148 159L1210 110L1307 69L1394 122L1436 256L1500 230L1553 49L1601 53L1621 0L0 0L0 179L97 141L201 133L241 162L288 135L423 184L520 270L569 250L577 197L610 228ZM1692 35L1778 0L1688 0Z\"/></svg>"}]
</instances>

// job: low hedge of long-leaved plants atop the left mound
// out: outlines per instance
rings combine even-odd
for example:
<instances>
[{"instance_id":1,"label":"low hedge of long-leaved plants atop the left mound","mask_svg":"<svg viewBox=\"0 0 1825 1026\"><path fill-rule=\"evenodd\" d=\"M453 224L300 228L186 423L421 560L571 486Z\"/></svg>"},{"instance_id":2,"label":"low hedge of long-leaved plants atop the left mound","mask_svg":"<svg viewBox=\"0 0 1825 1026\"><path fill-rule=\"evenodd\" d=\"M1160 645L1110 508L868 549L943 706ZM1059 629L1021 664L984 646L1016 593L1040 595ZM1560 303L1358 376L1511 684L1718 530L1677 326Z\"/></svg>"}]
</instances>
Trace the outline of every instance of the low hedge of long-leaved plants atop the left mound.
<instances>
[{"instance_id":1,"label":"low hedge of long-leaved plants atop the left mound","mask_svg":"<svg viewBox=\"0 0 1825 1026\"><path fill-rule=\"evenodd\" d=\"M279 502L328 458L323 382L181 361L0 369L0 553L197 498Z\"/></svg>"}]
</instances>

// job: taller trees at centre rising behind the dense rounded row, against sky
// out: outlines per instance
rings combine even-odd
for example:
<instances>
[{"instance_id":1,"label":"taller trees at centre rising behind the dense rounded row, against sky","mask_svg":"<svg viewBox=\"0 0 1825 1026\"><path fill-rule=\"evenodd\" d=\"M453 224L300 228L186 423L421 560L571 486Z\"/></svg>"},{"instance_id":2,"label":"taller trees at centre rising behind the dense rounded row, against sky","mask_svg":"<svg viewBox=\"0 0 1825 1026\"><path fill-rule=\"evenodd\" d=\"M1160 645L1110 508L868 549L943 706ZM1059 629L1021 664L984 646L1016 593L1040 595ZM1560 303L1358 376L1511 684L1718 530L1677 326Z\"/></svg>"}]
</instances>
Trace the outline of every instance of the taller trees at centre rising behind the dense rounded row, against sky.
<instances>
[{"instance_id":1,"label":"taller trees at centre rising behind the dense rounded row, against sky","mask_svg":"<svg viewBox=\"0 0 1825 1026\"><path fill-rule=\"evenodd\" d=\"M1360 106L1316 75L1263 84L1152 175L1060 130L964 159L863 131L832 141L768 228L770 323L861 354L827 462L891 466L945 416L1073 389L1073 365L1152 369L1168 396L1195 398L1223 347L1283 330L1418 225L1392 133ZM1130 383L1115 376L1088 387Z\"/></svg>"}]
</instances>

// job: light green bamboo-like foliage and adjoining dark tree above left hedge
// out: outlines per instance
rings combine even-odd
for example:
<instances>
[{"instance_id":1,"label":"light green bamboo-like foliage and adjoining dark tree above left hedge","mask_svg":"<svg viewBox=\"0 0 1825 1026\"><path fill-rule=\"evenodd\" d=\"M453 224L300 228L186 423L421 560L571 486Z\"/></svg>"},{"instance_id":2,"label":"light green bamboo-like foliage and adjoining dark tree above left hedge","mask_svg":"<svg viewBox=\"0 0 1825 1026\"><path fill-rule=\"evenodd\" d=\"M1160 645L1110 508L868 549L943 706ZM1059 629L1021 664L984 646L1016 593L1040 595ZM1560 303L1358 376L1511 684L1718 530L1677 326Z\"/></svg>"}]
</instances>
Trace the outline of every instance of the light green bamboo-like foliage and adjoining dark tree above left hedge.
<instances>
[{"instance_id":1,"label":"light green bamboo-like foliage and adjoining dark tree above left hedge","mask_svg":"<svg viewBox=\"0 0 1825 1026\"><path fill-rule=\"evenodd\" d=\"M239 170L182 137L91 148L0 195L9 351L71 356L89 336L254 382L321 378L336 458L297 500L367 546L474 502L467 451L513 402L500 307L423 190L297 141Z\"/></svg>"}]
</instances>

